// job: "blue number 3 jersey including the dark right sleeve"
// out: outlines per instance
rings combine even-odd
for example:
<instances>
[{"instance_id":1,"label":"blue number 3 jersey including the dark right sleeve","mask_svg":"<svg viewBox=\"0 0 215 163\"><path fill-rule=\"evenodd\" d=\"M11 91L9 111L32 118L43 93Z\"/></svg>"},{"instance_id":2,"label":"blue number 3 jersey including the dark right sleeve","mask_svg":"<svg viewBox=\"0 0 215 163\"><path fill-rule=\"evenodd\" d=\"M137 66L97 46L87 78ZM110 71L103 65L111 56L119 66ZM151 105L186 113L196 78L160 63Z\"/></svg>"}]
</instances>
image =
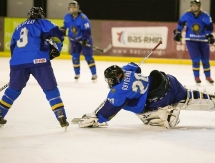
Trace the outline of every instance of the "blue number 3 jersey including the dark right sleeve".
<instances>
[{"instance_id":1,"label":"blue number 3 jersey including the dark right sleeve","mask_svg":"<svg viewBox=\"0 0 215 163\"><path fill-rule=\"evenodd\" d=\"M50 62L50 44L45 39L51 38L61 51L63 33L51 21L28 19L19 24L10 43L10 66L27 68Z\"/></svg>"}]
</instances>

